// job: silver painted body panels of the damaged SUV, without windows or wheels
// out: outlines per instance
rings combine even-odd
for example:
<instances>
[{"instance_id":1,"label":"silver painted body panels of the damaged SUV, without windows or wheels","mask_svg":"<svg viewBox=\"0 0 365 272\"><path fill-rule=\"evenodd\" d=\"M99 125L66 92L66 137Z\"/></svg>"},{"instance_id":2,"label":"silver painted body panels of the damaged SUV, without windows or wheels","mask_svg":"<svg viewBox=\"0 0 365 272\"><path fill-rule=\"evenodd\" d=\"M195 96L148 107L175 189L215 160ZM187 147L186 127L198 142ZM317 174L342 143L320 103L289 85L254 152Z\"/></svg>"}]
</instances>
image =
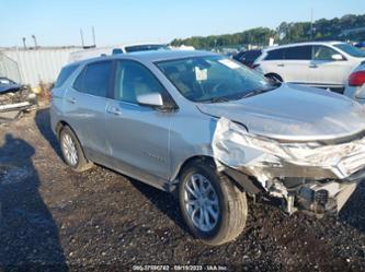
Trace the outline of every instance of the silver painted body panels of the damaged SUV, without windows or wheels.
<instances>
[{"instance_id":1,"label":"silver painted body panels of the damaged SUV, without windows or wheels","mask_svg":"<svg viewBox=\"0 0 365 272\"><path fill-rule=\"evenodd\" d=\"M56 131L60 121L69 123L89 159L167 189L189 158L213 157L212 141L220 117L242 123L250 133L290 141L337 139L365 129L363 108L357 103L328 91L289 84L237 102L193 103L183 97L153 63L207 55L213 54L155 51L82 61L62 86L54 90L53 130ZM130 59L142 63L162 83L179 109L162 113L76 94L72 83L81 69L101 59ZM80 95L77 100L84 102L70 105L67 99L77 95ZM121 117L107 115L111 106L122 109Z\"/></svg>"}]
</instances>

